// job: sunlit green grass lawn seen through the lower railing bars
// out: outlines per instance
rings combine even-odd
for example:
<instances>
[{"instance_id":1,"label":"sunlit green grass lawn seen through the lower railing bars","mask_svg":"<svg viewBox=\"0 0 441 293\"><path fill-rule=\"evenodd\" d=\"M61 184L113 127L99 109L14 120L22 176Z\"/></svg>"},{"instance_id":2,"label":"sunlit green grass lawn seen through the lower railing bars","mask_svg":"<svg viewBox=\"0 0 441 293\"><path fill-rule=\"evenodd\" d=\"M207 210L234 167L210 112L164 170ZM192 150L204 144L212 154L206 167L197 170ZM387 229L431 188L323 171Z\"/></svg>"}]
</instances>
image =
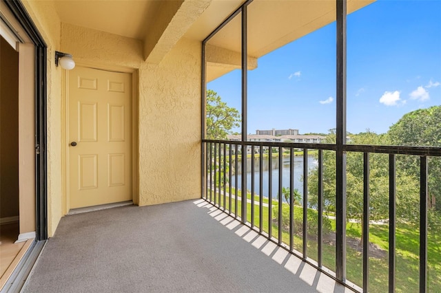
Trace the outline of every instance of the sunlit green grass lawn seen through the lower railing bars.
<instances>
[{"instance_id":1,"label":"sunlit green grass lawn seen through the lower railing bars","mask_svg":"<svg viewBox=\"0 0 441 293\"><path fill-rule=\"evenodd\" d=\"M229 198L227 197L227 210L234 214L236 211L235 190L232 190L232 206L229 207ZM238 190L238 198L241 193ZM216 193L218 195L218 193ZM252 195L247 193L247 198ZM217 198L216 198L217 199ZM255 197L255 202L259 202L259 197ZM269 200L264 197L264 204ZM238 200L238 216L241 213L242 202ZM220 206L223 206L223 195L220 197ZM278 202L273 200L273 210L278 210ZM288 204L283 203L283 209L289 209ZM251 204L247 203L247 221L252 221ZM295 206L294 213L302 215L302 207ZM274 215L269 217L269 207L263 206L263 221L260 223L259 207L254 206L254 225L259 228L262 225L263 231L269 232L269 223L271 222L271 235L278 237L278 222ZM276 216L277 217L277 216ZM331 233L336 230L334 219L331 221ZM302 251L302 231L295 231L294 249ZM329 236L329 235L328 235ZM360 241L361 225L358 223L347 224L347 241L352 241L352 245L347 244L346 272L347 279L362 286L362 249L353 246L353 243ZM329 237L328 237L329 238ZM283 242L289 245L289 232L282 230ZM388 225L370 225L369 241L376 246L376 253L369 259L369 291L387 292L389 278L389 226ZM396 228L396 292L418 292L419 291L419 228L411 224L397 223ZM308 235L307 255L311 259L317 260L317 240L314 235ZM322 263L325 267L335 270L335 246L325 241L322 245ZM441 235L429 232L428 235L428 292L441 292Z\"/></svg>"}]
</instances>

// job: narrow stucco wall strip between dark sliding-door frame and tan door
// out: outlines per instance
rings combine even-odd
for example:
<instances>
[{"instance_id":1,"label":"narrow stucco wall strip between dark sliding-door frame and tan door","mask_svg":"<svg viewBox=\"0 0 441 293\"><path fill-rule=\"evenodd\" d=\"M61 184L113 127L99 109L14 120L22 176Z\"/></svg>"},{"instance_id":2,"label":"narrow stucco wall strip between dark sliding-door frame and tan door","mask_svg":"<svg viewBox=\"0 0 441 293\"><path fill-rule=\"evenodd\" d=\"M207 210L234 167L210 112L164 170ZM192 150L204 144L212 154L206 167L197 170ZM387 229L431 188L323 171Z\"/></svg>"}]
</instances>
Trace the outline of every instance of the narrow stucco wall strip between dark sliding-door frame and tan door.
<instances>
[{"instance_id":1,"label":"narrow stucco wall strip between dark sliding-door frame and tan door","mask_svg":"<svg viewBox=\"0 0 441 293\"><path fill-rule=\"evenodd\" d=\"M48 235L54 235L62 213L61 197L61 72L55 67L61 23L52 1L23 1L23 5L48 45Z\"/></svg>"}]
</instances>

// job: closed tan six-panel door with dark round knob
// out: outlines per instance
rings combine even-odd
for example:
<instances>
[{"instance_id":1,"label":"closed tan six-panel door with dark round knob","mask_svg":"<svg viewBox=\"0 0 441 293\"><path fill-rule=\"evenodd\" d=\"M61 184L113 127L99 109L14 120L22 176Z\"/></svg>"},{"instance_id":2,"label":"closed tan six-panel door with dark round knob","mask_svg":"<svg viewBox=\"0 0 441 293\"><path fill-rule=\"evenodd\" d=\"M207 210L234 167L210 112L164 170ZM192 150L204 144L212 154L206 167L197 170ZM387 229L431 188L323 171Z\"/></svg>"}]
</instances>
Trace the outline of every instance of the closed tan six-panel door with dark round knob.
<instances>
[{"instance_id":1,"label":"closed tan six-panel door with dark round knob","mask_svg":"<svg viewBox=\"0 0 441 293\"><path fill-rule=\"evenodd\" d=\"M132 76L68 72L69 208L132 200Z\"/></svg>"}]
</instances>

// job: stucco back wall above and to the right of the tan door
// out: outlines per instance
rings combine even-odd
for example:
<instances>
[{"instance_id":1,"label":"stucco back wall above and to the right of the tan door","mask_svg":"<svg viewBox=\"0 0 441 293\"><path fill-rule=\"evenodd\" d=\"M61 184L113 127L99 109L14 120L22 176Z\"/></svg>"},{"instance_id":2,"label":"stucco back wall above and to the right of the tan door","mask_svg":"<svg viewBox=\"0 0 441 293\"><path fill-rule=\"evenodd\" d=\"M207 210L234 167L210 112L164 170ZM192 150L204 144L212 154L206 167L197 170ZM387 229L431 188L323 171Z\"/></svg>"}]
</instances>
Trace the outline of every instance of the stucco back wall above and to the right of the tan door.
<instances>
[{"instance_id":1,"label":"stucco back wall above and to the right of the tan door","mask_svg":"<svg viewBox=\"0 0 441 293\"><path fill-rule=\"evenodd\" d=\"M127 67L139 74L140 206L201 196L201 43L181 39L158 65L143 61L143 43L76 25L61 25L61 50L85 65Z\"/></svg>"}]
</instances>

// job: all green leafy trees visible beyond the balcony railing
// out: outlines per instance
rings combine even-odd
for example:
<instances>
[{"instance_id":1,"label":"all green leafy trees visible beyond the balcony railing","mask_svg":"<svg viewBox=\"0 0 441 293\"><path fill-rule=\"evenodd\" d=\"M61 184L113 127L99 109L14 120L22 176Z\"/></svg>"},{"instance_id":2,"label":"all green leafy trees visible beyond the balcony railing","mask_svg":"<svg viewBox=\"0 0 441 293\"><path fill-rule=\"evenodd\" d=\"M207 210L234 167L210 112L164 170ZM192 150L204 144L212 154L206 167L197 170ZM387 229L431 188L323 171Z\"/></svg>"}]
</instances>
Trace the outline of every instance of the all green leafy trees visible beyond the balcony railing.
<instances>
[{"instance_id":1,"label":"all green leafy trees visible beyond the balcony railing","mask_svg":"<svg viewBox=\"0 0 441 293\"><path fill-rule=\"evenodd\" d=\"M240 126L240 113L229 107L213 90L207 90L206 133L209 139L226 139L232 129ZM372 131L348 133L351 144L433 146L441 147L441 106L418 109L405 114L387 133ZM325 143L336 143L335 129L326 135ZM420 157L396 156L396 215L400 221L418 224L420 221ZM441 158L429 162L429 229L441 231ZM389 158L387 154L369 155L370 219L389 217ZM325 210L335 211L336 154L324 151L323 197ZM318 170L309 174L309 182L318 180ZM317 206L317 184L309 185L309 204ZM347 153L347 217L362 220L363 212L363 154ZM287 192L289 194L289 191Z\"/></svg>"}]
</instances>

